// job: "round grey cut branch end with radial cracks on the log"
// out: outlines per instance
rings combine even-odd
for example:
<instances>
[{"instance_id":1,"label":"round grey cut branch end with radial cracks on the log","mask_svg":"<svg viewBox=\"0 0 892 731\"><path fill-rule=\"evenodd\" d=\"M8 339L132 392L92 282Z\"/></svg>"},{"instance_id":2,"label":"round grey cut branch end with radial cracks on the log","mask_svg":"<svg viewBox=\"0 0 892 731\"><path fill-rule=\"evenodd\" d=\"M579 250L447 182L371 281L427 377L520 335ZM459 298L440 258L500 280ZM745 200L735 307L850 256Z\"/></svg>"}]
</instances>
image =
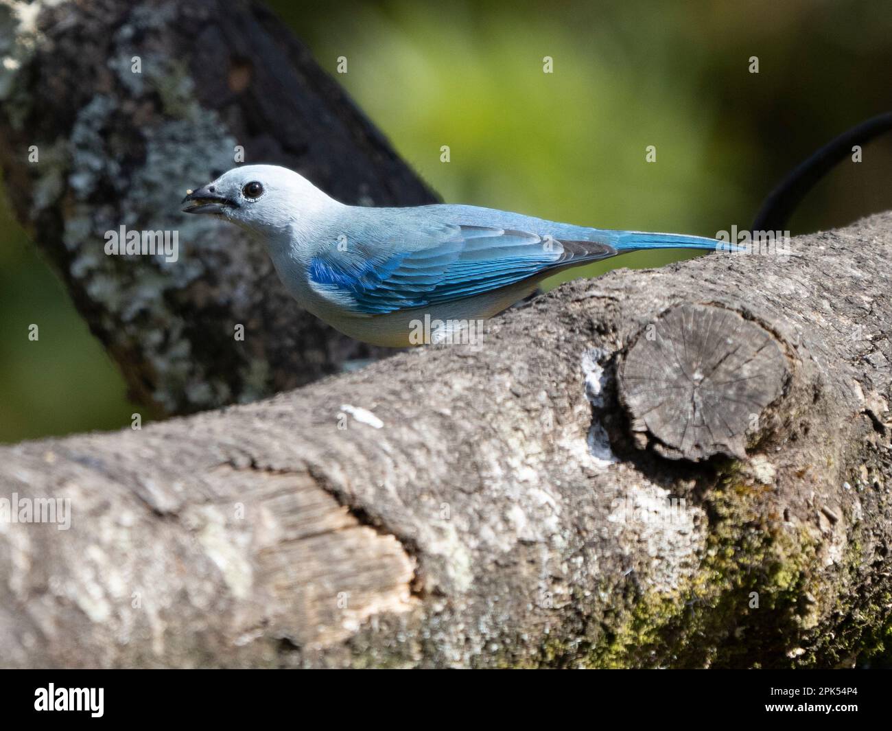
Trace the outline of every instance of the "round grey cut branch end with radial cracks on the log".
<instances>
[{"instance_id":1,"label":"round grey cut branch end with radial cracks on the log","mask_svg":"<svg viewBox=\"0 0 892 731\"><path fill-rule=\"evenodd\" d=\"M632 429L672 459L746 458L747 430L780 396L787 363L771 333L737 312L683 304L645 328L619 369Z\"/></svg>"}]
</instances>

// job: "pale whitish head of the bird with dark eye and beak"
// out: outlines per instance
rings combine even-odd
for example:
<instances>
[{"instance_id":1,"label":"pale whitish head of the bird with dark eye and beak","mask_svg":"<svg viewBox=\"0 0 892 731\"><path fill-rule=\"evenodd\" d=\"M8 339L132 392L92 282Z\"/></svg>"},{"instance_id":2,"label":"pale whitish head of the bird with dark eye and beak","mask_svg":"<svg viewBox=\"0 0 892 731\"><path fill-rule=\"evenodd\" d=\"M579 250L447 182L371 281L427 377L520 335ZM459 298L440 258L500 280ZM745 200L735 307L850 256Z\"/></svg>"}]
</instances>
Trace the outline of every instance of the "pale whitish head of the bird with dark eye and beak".
<instances>
[{"instance_id":1,"label":"pale whitish head of the bird with dark eye and beak","mask_svg":"<svg viewBox=\"0 0 892 731\"><path fill-rule=\"evenodd\" d=\"M245 165L183 198L186 213L207 213L259 234L275 234L335 201L293 170Z\"/></svg>"}]
</instances>

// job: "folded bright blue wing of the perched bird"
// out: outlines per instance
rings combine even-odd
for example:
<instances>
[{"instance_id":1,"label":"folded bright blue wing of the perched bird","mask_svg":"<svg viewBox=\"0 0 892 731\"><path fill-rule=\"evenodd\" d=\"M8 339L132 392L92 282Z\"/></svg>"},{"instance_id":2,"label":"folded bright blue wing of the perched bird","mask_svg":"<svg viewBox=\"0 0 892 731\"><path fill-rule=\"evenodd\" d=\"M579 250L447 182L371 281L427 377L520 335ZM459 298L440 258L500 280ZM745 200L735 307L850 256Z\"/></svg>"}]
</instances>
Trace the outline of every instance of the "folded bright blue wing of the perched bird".
<instances>
[{"instance_id":1,"label":"folded bright blue wing of the perched bird","mask_svg":"<svg viewBox=\"0 0 892 731\"><path fill-rule=\"evenodd\" d=\"M508 287L548 270L613 256L596 241L558 241L525 231L447 225L422 245L331 245L310 262L311 286L352 312L384 314ZM402 250L401 250L402 249Z\"/></svg>"}]
</instances>

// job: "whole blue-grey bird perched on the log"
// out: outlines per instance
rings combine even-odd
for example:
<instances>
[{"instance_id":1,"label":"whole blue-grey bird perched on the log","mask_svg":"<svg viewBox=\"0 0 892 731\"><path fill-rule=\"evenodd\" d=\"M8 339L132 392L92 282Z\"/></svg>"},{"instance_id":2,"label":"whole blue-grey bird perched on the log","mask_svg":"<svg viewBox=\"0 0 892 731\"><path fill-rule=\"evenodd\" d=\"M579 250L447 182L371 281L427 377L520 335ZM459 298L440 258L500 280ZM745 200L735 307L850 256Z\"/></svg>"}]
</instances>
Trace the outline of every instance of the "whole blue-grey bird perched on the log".
<instances>
[{"instance_id":1,"label":"whole blue-grey bird perched on the log","mask_svg":"<svg viewBox=\"0 0 892 731\"><path fill-rule=\"evenodd\" d=\"M585 228L473 205L363 208L274 165L234 168L183 199L267 246L302 307L357 340L417 345L417 323L491 318L558 271L704 237Z\"/></svg>"}]
</instances>

